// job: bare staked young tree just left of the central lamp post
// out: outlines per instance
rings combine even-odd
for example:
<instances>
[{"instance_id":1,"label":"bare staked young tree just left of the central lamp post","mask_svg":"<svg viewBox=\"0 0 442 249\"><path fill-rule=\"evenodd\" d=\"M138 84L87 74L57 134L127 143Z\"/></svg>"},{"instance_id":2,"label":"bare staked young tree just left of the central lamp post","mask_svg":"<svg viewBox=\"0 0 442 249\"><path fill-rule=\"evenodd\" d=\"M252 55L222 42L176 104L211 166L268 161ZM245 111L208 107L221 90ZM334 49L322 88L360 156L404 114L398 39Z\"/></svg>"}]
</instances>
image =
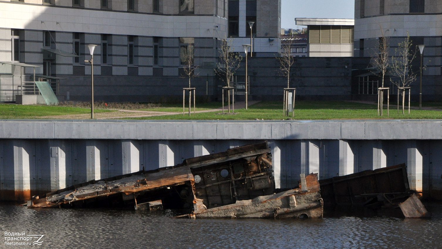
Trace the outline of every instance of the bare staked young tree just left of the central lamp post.
<instances>
[{"instance_id":1,"label":"bare staked young tree just left of the central lamp post","mask_svg":"<svg viewBox=\"0 0 442 249\"><path fill-rule=\"evenodd\" d=\"M228 87L227 105L229 106L228 107L229 112L230 112L230 87L231 87L230 81L232 80L236 70L240 67L240 62L243 59L243 57L240 54L235 53L234 51L235 49L232 46L232 39L228 40L224 38L221 41L221 48L219 49L220 62L217 63L217 68L215 69L215 73L217 73L221 77L221 80L224 81L225 86ZM224 111L224 103L223 103L223 111Z\"/></svg>"}]
</instances>

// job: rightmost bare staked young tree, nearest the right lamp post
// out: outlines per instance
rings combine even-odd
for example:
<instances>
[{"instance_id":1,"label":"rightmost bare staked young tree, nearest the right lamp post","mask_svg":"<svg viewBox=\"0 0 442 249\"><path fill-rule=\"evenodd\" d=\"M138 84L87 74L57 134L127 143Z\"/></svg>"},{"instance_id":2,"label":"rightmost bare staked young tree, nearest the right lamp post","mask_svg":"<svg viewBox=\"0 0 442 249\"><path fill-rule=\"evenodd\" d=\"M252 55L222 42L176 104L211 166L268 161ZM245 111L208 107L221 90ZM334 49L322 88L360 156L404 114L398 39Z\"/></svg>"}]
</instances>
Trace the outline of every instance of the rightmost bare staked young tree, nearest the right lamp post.
<instances>
[{"instance_id":1,"label":"rightmost bare staked young tree, nearest the right lamp post","mask_svg":"<svg viewBox=\"0 0 442 249\"><path fill-rule=\"evenodd\" d=\"M407 38L398 43L395 49L395 56L392 57L392 83L398 88L398 112L399 112L399 91L402 95L402 114L404 114L405 91L409 89L410 84L416 80L416 73L412 70L412 61L416 57L416 49L412 50L412 41L407 32Z\"/></svg>"}]
</instances>

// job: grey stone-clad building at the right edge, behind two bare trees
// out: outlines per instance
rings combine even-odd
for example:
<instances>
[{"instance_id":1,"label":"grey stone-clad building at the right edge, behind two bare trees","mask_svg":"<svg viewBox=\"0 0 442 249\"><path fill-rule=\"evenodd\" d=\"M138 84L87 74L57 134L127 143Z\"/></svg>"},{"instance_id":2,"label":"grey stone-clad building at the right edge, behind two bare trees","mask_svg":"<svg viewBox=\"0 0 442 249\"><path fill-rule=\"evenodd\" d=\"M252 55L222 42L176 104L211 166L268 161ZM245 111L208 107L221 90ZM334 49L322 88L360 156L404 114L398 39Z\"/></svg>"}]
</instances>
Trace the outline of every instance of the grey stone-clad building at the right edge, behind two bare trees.
<instances>
[{"instance_id":1,"label":"grey stone-clad building at the right edge, behind two bare trees","mask_svg":"<svg viewBox=\"0 0 442 249\"><path fill-rule=\"evenodd\" d=\"M416 57L412 61L412 71L417 73L417 80L411 86L412 100L419 96L419 67L423 59L422 99L437 100L441 96L441 50L442 50L442 2L439 0L355 0L354 12L354 69L353 94L375 95L376 90L360 92L361 84L371 84L373 89L376 76L363 69L370 68L370 57L377 53L381 29L389 38L389 54L394 55L398 43L404 41L407 34L412 41L412 52ZM425 45L423 58L417 45ZM359 76L359 77L358 77ZM389 76L389 73L387 73ZM373 83L374 82L374 83ZM391 82L387 87L396 90ZM390 92L392 92L390 91Z\"/></svg>"}]
</instances>

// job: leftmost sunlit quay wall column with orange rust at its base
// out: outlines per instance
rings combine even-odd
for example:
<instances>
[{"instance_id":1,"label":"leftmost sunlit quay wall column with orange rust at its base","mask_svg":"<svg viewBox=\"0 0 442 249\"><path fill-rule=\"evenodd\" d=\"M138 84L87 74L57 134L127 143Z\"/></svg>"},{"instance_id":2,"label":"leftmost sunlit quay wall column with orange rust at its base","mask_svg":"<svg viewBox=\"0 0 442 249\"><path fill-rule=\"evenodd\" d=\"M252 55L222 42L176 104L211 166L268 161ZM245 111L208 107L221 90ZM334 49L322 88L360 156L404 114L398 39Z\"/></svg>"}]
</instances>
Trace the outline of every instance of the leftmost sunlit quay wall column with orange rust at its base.
<instances>
[{"instance_id":1,"label":"leftmost sunlit quay wall column with orange rust at its base","mask_svg":"<svg viewBox=\"0 0 442 249\"><path fill-rule=\"evenodd\" d=\"M14 145L14 190L15 200L30 199L29 153L23 140L15 140Z\"/></svg>"}]
</instances>

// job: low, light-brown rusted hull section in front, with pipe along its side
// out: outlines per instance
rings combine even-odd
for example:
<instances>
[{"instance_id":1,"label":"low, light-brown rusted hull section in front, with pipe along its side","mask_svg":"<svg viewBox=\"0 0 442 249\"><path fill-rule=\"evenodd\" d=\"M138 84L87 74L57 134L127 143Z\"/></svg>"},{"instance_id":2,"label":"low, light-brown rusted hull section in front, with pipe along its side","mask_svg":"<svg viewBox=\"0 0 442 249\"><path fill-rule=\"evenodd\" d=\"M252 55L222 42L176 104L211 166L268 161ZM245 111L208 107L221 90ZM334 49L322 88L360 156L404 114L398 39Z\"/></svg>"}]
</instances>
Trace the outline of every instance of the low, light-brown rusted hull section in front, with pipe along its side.
<instances>
[{"instance_id":1,"label":"low, light-brown rusted hull section in front, with pipe along its side","mask_svg":"<svg viewBox=\"0 0 442 249\"><path fill-rule=\"evenodd\" d=\"M206 209L201 199L194 200L190 218L322 218L323 201L317 174L301 175L301 186L234 204Z\"/></svg>"}]
</instances>

